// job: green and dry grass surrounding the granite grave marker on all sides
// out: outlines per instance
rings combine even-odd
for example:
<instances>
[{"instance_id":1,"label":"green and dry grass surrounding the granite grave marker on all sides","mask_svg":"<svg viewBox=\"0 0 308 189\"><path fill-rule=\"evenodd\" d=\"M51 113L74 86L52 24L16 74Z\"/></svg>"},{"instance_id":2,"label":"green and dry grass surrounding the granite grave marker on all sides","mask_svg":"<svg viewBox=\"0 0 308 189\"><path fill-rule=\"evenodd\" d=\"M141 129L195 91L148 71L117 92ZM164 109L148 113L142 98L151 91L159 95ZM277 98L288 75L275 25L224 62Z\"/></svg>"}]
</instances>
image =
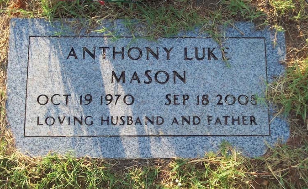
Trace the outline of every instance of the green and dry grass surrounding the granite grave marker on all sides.
<instances>
[{"instance_id":1,"label":"green and dry grass surrounding the granite grave marker on all sides","mask_svg":"<svg viewBox=\"0 0 308 189\"><path fill-rule=\"evenodd\" d=\"M0 0L0 188L304 188L308 187L307 42L308 8L305 0L221 0L195 6L185 0L127 3ZM216 3L218 3L216 5ZM203 159L91 159L72 154L44 158L24 156L14 148L7 128L6 66L9 19L40 17L87 18L76 30L89 31L101 19L135 18L146 23L153 38L176 34L199 25L220 42L218 25L253 21L286 31L286 76L269 86L270 102L289 113L291 137L287 145L270 148L265 156L249 159L229 144ZM132 25L132 28L133 25ZM202 32L201 31L201 32ZM140 31L142 32L142 31ZM299 116L296 116L298 114ZM229 152L229 153L226 153Z\"/></svg>"}]
</instances>

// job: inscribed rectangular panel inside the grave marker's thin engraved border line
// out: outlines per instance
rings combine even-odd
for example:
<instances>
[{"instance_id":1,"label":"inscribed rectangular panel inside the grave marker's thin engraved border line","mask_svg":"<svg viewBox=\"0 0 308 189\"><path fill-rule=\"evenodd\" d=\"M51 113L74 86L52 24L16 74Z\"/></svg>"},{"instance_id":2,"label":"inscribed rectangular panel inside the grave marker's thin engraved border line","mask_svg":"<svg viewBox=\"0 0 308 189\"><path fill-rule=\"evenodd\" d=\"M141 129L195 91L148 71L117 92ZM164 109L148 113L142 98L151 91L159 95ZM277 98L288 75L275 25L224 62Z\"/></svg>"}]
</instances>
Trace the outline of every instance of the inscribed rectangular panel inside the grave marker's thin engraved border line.
<instances>
[{"instance_id":1,"label":"inscribed rectangular panel inside the grave marker's thin engraved border line","mask_svg":"<svg viewBox=\"0 0 308 189\"><path fill-rule=\"evenodd\" d=\"M263 38L130 40L30 37L25 136L270 134Z\"/></svg>"}]
</instances>

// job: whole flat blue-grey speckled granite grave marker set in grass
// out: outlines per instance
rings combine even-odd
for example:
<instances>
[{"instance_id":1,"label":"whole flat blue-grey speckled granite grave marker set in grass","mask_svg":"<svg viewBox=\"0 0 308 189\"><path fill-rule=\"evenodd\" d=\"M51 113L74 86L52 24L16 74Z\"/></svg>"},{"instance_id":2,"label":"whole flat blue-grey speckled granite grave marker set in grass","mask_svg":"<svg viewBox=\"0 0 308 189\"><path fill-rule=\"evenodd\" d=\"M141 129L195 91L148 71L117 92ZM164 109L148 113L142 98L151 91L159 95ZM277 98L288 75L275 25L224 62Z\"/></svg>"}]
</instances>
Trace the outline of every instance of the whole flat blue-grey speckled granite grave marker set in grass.
<instances>
[{"instance_id":1,"label":"whole flat blue-grey speckled granite grave marker set in grass","mask_svg":"<svg viewBox=\"0 0 308 189\"><path fill-rule=\"evenodd\" d=\"M287 122L262 101L266 83L284 72L279 63L286 54L284 33L275 38L275 31L239 22L225 29L220 47L197 29L148 41L138 33L133 40L121 20L102 26L119 38L108 32L75 34L43 19L11 20L6 108L20 151L194 158L217 151L226 140L254 157L289 137ZM124 47L123 59L113 47L117 52ZM195 47L199 58L205 49L204 59L196 60ZM112 72L118 78L123 73L119 82Z\"/></svg>"}]
</instances>

